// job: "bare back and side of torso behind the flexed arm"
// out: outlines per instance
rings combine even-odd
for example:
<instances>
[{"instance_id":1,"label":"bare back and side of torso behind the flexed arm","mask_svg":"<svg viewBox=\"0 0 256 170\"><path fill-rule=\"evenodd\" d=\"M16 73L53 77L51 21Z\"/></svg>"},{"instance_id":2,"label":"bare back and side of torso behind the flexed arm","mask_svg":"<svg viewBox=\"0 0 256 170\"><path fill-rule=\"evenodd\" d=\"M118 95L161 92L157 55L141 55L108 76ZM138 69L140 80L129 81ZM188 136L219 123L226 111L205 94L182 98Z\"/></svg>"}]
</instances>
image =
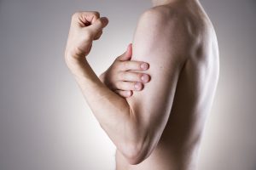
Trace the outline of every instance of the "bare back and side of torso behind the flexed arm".
<instances>
[{"instance_id":1,"label":"bare back and side of torso behind the flexed arm","mask_svg":"<svg viewBox=\"0 0 256 170\"><path fill-rule=\"evenodd\" d=\"M192 50L179 74L172 111L157 147L137 165L130 165L117 150L117 170L196 169L201 136L218 82L217 39L199 3L173 3L158 10L176 11L193 37Z\"/></svg>"}]
</instances>

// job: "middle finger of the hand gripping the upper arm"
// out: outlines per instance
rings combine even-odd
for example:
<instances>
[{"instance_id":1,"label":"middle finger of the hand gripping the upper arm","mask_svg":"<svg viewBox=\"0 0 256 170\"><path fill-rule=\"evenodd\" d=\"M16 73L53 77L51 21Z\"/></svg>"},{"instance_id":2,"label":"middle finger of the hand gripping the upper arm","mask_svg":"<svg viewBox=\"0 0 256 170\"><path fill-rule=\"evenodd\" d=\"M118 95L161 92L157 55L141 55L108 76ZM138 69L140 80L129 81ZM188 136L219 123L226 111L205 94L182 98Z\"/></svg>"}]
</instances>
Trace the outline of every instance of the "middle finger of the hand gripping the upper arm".
<instances>
[{"instance_id":1,"label":"middle finger of the hand gripping the upper arm","mask_svg":"<svg viewBox=\"0 0 256 170\"><path fill-rule=\"evenodd\" d=\"M118 81L125 82L149 82L150 76L148 74L132 72L132 71L121 71L119 72Z\"/></svg>"}]
</instances>

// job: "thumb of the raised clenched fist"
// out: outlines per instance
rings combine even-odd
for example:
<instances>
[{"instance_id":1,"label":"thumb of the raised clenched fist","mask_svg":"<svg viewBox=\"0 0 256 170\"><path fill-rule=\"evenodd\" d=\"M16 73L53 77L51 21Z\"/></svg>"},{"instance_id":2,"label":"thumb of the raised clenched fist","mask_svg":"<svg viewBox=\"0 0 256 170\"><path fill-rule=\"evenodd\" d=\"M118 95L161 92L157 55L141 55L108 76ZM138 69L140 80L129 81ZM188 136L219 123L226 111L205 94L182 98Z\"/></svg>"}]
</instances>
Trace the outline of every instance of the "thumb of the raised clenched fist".
<instances>
[{"instance_id":1,"label":"thumb of the raised clenched fist","mask_svg":"<svg viewBox=\"0 0 256 170\"><path fill-rule=\"evenodd\" d=\"M96 20L94 23L92 23L92 25L90 25L86 28L90 29L90 32L95 37L107 25L108 25L108 18L107 17L102 17L102 18L99 18L98 20Z\"/></svg>"}]
</instances>

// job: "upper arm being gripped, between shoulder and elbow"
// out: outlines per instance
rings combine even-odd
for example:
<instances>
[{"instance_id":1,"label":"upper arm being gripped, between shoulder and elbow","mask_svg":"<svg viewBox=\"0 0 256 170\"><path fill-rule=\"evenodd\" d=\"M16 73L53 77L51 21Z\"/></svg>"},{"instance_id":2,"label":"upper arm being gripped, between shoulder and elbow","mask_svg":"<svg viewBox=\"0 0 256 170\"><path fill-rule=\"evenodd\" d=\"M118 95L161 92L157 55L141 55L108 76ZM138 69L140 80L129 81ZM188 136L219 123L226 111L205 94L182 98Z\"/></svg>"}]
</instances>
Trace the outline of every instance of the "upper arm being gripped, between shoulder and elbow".
<instances>
[{"instance_id":1,"label":"upper arm being gripped, between shoulder and elbow","mask_svg":"<svg viewBox=\"0 0 256 170\"><path fill-rule=\"evenodd\" d=\"M183 59L177 47L172 45L172 34L166 36L166 32L158 28L140 25L134 37L131 59L148 62L149 70L145 72L151 81L144 84L143 91L134 91L127 102L137 119L138 133L145 135L152 151L166 127Z\"/></svg>"}]
</instances>

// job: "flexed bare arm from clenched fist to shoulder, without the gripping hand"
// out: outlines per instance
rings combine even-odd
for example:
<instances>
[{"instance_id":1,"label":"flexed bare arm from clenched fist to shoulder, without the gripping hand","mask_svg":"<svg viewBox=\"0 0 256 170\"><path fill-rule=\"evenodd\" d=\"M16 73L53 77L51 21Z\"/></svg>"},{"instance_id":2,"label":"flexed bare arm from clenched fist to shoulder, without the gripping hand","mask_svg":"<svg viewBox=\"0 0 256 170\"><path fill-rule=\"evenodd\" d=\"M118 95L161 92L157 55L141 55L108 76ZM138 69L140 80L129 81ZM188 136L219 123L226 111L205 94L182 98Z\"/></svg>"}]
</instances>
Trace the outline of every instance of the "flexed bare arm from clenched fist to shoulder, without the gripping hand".
<instances>
[{"instance_id":1,"label":"flexed bare arm from clenched fist to shoulder, without the gripping hand","mask_svg":"<svg viewBox=\"0 0 256 170\"><path fill-rule=\"evenodd\" d=\"M148 62L150 69L145 72L152 80L143 92L135 91L125 99L96 77L85 57L107 24L108 20L98 13L74 14L65 59L97 121L127 161L138 164L152 153L166 126L185 60L181 44L186 44L186 34L177 20L167 26L158 12L143 14L132 57Z\"/></svg>"}]
</instances>

